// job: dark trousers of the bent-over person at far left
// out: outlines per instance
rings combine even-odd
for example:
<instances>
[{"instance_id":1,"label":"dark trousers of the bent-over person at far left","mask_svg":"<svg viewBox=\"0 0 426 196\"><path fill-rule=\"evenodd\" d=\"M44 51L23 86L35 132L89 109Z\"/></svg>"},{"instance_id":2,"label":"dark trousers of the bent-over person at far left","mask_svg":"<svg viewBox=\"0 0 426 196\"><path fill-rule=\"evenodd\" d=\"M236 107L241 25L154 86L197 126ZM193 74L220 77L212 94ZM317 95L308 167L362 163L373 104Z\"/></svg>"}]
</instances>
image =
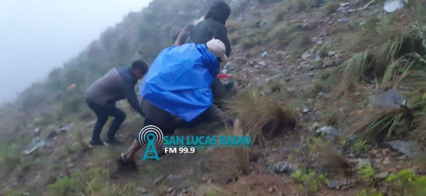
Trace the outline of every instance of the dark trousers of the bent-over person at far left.
<instances>
[{"instance_id":1,"label":"dark trousers of the bent-over person at far left","mask_svg":"<svg viewBox=\"0 0 426 196\"><path fill-rule=\"evenodd\" d=\"M93 129L92 140L93 141L100 140L99 136L103 126L105 125L105 123L107 123L108 117L113 116L114 121L111 124L107 137L109 140L114 141L114 136L117 133L118 128L120 128L121 124L124 122L124 119L126 119L126 113L124 113L123 110L117 107L100 106L88 99L86 99L86 103L90 107L90 109L92 109L95 112L98 118L98 120L96 121L95 127Z\"/></svg>"}]
</instances>

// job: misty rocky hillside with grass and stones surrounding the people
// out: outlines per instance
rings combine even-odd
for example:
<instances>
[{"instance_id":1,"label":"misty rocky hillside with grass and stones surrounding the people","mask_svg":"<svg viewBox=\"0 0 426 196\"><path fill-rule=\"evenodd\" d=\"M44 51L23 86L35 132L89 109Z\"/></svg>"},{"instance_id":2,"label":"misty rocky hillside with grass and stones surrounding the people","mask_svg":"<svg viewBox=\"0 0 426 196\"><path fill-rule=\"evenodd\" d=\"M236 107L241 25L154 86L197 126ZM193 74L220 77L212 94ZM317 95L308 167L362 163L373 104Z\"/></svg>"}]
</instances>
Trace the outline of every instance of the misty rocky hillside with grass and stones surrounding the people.
<instances>
[{"instance_id":1,"label":"misty rocky hillside with grass and stones surrounding the people","mask_svg":"<svg viewBox=\"0 0 426 196\"><path fill-rule=\"evenodd\" d=\"M154 0L3 105L1 193L426 194L424 0L392 13L380 0L228 1L233 51L222 70L238 93L226 110L255 145L167 154L137 162L137 171L115 163L128 145L87 148L95 116L85 88L111 67L151 62L212 2ZM119 107L129 114L119 137L130 143L143 120L126 102ZM179 134L228 131L206 125Z\"/></svg>"}]
</instances>

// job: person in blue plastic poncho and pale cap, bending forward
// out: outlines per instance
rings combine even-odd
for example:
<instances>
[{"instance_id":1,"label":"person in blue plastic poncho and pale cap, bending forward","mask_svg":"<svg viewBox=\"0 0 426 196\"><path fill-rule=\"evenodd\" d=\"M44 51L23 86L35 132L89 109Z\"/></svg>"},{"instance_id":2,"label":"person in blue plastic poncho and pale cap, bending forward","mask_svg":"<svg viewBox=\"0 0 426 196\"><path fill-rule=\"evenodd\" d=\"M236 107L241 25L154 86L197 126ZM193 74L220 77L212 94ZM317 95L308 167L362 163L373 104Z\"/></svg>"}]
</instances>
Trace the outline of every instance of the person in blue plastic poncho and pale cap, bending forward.
<instances>
[{"instance_id":1,"label":"person in blue plastic poncho and pale cap, bending forward","mask_svg":"<svg viewBox=\"0 0 426 196\"><path fill-rule=\"evenodd\" d=\"M144 127L154 125L164 135L177 128L192 127L207 120L227 119L213 104L211 83L219 73L220 61L226 61L225 45L212 38L206 44L185 44L164 49L155 59L139 93L145 112ZM142 147L139 133L130 148L121 154L121 163L134 164L134 154ZM164 154L160 150L159 155Z\"/></svg>"}]
</instances>

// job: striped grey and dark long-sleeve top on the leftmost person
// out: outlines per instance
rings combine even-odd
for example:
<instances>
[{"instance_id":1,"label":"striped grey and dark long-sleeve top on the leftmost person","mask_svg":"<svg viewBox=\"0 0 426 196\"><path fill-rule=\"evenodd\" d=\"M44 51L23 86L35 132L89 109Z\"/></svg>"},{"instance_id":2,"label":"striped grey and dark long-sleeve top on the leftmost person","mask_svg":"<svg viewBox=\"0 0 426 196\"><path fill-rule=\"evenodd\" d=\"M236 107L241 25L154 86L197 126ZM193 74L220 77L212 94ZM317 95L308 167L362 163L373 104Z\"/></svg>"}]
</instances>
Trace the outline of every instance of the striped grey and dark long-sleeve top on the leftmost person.
<instances>
[{"instance_id":1,"label":"striped grey and dark long-sleeve top on the leftmost person","mask_svg":"<svg viewBox=\"0 0 426 196\"><path fill-rule=\"evenodd\" d=\"M86 90L86 98L103 107L114 107L116 101L127 99L134 110L145 116L134 92L137 80L130 73L131 67L110 69Z\"/></svg>"}]
</instances>

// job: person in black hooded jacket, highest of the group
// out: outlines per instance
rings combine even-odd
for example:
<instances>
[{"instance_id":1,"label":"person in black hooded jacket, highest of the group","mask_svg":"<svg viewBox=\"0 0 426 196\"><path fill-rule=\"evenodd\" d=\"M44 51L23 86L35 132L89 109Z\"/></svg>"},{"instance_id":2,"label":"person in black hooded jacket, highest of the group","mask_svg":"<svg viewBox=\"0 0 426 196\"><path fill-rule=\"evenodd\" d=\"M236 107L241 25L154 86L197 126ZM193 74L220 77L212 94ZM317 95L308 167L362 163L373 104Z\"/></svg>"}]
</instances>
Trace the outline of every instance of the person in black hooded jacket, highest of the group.
<instances>
[{"instance_id":1,"label":"person in black hooded jacket, highest of the group","mask_svg":"<svg viewBox=\"0 0 426 196\"><path fill-rule=\"evenodd\" d=\"M204 20L194 27L190 43L205 44L215 37L225 44L225 54L229 57L231 54L231 44L229 43L225 22L230 14L231 9L225 2L216 2L213 6L211 6L207 15L204 17ZM215 81L211 84L211 90L215 104L220 107L221 100L228 97L229 94L218 77L215 77Z\"/></svg>"}]
</instances>

